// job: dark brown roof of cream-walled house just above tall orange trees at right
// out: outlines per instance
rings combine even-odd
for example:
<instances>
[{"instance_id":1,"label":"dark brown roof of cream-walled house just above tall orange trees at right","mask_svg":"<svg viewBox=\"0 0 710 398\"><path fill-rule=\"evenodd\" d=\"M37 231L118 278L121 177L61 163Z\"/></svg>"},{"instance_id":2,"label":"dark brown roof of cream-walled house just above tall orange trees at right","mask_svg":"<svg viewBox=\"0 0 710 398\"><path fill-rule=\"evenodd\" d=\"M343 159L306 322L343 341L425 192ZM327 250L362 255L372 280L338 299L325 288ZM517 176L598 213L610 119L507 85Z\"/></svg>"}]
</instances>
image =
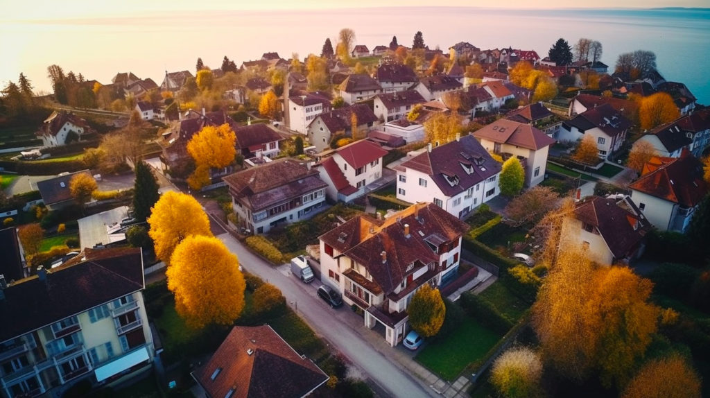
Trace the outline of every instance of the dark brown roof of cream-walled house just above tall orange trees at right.
<instances>
[{"instance_id":1,"label":"dark brown roof of cream-walled house just above tall orange trees at right","mask_svg":"<svg viewBox=\"0 0 710 398\"><path fill-rule=\"evenodd\" d=\"M623 209L611 199L588 197L575 205L574 217L594 226L615 258L626 258L651 229L648 220L630 203L629 209Z\"/></svg>"}]
</instances>

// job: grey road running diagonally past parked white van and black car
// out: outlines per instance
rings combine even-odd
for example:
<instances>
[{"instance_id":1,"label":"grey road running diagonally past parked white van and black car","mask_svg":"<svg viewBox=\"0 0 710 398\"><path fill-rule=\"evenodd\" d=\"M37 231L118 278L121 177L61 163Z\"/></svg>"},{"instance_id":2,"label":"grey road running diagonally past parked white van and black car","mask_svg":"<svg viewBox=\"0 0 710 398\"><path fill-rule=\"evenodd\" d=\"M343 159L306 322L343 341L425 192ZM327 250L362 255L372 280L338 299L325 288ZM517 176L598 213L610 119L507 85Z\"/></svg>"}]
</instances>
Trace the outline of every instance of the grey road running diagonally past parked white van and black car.
<instances>
[{"instance_id":1,"label":"grey road running diagonally past parked white van and black car","mask_svg":"<svg viewBox=\"0 0 710 398\"><path fill-rule=\"evenodd\" d=\"M217 236L239 258L239 263L249 272L274 284L283 292L286 300L295 307L297 314L304 318L325 340L349 358L377 383L388 397L435 397L435 392L420 384L398 365L373 348L353 329L352 314L347 306L331 309L315 293L315 287L303 284L290 275L288 265L274 267L251 251L244 248L229 233ZM317 283L317 282L312 282ZM361 326L364 327L364 326Z\"/></svg>"}]
</instances>

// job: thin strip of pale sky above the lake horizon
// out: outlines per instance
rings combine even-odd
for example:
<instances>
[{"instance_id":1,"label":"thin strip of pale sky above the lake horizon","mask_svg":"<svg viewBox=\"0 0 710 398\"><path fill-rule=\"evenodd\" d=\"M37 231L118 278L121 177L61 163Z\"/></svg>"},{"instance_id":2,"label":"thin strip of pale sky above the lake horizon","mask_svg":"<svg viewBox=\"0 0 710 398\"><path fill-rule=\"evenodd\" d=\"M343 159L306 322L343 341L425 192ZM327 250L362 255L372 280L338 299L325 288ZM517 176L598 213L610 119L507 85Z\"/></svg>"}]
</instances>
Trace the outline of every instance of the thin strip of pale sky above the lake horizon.
<instances>
[{"instance_id":1,"label":"thin strip of pale sky above the lake horizon","mask_svg":"<svg viewBox=\"0 0 710 398\"><path fill-rule=\"evenodd\" d=\"M190 10L270 10L270 9L342 9L359 7L432 6L431 0L1 0L3 15L0 21L32 21L87 16L119 16L161 11ZM436 6L468 6L510 9L570 9L570 8L655 8L707 7L707 0L438 0Z\"/></svg>"}]
</instances>

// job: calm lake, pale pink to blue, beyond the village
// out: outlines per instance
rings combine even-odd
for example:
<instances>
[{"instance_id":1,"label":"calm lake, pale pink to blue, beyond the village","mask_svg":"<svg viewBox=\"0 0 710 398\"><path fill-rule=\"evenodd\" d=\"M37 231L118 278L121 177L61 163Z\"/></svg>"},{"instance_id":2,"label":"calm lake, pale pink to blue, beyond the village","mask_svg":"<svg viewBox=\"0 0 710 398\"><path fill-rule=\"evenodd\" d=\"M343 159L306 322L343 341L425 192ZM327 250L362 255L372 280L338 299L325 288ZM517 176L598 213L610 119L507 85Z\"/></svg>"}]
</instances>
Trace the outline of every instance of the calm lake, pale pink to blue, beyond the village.
<instances>
[{"instance_id":1,"label":"calm lake, pale pink to blue, beyond the village","mask_svg":"<svg viewBox=\"0 0 710 398\"><path fill-rule=\"evenodd\" d=\"M557 38L580 37L603 45L602 62L613 69L623 52L650 50L660 73L684 82L699 102L710 104L710 9L503 10L460 7L329 9L319 11L175 11L141 16L0 24L0 83L24 72L35 89L49 90L48 65L109 83L116 72L163 81L165 70L195 70L197 57L217 68L224 55L237 65L276 51L288 58L320 54L325 38L351 28L356 42L372 49L393 35L412 45L422 31L430 48L467 41L481 49L536 50L540 57Z\"/></svg>"}]
</instances>

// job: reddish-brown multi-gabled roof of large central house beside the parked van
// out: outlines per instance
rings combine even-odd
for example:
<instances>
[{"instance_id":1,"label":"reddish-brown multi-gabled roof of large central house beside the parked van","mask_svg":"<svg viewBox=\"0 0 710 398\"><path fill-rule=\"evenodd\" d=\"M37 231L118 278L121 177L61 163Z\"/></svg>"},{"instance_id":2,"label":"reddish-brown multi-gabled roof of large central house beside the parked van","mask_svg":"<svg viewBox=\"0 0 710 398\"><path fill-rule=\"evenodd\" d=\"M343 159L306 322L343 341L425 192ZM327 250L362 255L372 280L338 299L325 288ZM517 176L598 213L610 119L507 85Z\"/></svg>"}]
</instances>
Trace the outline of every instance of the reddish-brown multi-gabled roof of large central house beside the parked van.
<instances>
[{"instance_id":1,"label":"reddish-brown multi-gabled roof of large central house beside the parked van","mask_svg":"<svg viewBox=\"0 0 710 398\"><path fill-rule=\"evenodd\" d=\"M405 235L404 226L409 226ZM320 236L333 248L363 265L371 275L371 292L394 292L407 275L418 268L438 262L439 255L427 239L458 241L468 224L431 203L418 203L393 214L384 221L356 216ZM385 252L383 261L382 253ZM410 268L410 265L415 267Z\"/></svg>"}]
</instances>

